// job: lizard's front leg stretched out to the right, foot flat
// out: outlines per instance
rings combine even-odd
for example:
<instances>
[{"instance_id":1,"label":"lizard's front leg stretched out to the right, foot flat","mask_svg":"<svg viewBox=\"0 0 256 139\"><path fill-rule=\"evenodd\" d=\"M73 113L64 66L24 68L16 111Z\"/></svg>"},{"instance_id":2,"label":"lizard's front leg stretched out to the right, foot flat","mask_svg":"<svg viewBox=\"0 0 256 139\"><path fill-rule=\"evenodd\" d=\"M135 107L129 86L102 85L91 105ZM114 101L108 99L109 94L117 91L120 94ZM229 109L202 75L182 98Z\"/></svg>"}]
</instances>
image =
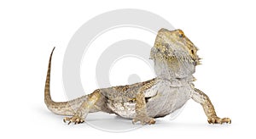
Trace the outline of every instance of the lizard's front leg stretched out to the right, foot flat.
<instances>
[{"instance_id":1,"label":"lizard's front leg stretched out to the right, foot flat","mask_svg":"<svg viewBox=\"0 0 256 139\"><path fill-rule=\"evenodd\" d=\"M204 108L205 114L208 118L209 124L222 124L229 123L231 124L231 120L229 118L218 118L215 109L210 101L210 98L204 92L201 92L199 89L194 89L194 93L192 93L192 99L197 103L201 103Z\"/></svg>"}]
</instances>

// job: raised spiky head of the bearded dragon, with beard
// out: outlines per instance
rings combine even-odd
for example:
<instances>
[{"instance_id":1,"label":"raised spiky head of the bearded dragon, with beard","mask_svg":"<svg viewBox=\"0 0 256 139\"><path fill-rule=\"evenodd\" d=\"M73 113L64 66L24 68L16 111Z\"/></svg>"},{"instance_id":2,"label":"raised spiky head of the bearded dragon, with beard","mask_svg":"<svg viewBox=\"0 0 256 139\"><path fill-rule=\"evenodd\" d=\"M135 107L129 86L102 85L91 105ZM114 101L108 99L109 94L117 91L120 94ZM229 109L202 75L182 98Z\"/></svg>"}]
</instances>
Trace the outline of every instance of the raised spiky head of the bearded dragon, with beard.
<instances>
[{"instance_id":1,"label":"raised spiky head of the bearded dragon, with beard","mask_svg":"<svg viewBox=\"0 0 256 139\"><path fill-rule=\"evenodd\" d=\"M157 75L171 74L172 77L183 78L194 74L195 66L200 64L197 50L183 31L161 29L151 49L150 58L154 60Z\"/></svg>"}]
</instances>

